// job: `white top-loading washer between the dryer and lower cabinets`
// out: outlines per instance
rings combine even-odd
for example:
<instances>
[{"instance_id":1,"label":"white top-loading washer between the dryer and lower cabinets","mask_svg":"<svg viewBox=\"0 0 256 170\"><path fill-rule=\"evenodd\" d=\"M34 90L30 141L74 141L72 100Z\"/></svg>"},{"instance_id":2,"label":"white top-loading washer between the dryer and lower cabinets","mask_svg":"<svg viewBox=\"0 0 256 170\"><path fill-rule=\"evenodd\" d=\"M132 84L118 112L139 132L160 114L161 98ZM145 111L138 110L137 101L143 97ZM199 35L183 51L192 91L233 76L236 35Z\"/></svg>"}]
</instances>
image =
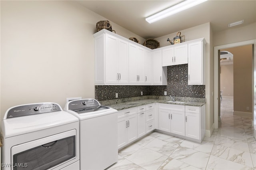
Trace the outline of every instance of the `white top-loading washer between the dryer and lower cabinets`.
<instances>
[{"instance_id":1,"label":"white top-loading washer between the dryer and lower cabinets","mask_svg":"<svg viewBox=\"0 0 256 170\"><path fill-rule=\"evenodd\" d=\"M79 99L66 103L64 111L80 122L81 170L104 170L117 162L117 110L95 99Z\"/></svg>"}]
</instances>

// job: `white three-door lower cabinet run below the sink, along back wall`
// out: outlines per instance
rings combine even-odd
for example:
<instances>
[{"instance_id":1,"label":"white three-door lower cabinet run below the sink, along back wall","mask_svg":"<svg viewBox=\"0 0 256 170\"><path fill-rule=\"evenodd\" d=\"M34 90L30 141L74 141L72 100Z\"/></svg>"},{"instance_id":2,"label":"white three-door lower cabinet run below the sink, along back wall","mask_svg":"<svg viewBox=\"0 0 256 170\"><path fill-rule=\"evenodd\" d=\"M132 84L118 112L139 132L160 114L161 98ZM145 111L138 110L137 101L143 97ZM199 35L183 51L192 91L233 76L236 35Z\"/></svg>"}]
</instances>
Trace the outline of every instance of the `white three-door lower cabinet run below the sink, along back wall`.
<instances>
[{"instance_id":1,"label":"white three-door lower cabinet run below the sink, along back wall","mask_svg":"<svg viewBox=\"0 0 256 170\"><path fill-rule=\"evenodd\" d=\"M205 105L158 104L158 130L202 142L205 136Z\"/></svg>"}]
</instances>

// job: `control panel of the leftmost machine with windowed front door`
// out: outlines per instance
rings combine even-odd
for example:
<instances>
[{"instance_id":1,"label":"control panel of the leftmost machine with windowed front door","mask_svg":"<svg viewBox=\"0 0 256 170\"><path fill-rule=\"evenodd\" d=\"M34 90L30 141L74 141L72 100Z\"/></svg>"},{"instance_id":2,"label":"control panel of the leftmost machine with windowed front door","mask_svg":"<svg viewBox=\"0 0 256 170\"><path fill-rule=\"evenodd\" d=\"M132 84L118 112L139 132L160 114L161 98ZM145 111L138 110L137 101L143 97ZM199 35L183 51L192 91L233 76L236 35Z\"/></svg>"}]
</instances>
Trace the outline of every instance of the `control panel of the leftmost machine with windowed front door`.
<instances>
[{"instance_id":1,"label":"control panel of the leftmost machine with windowed front door","mask_svg":"<svg viewBox=\"0 0 256 170\"><path fill-rule=\"evenodd\" d=\"M12 107L8 111L6 119L55 111L62 111L61 107L56 103L34 103L29 105L20 105Z\"/></svg>"}]
</instances>

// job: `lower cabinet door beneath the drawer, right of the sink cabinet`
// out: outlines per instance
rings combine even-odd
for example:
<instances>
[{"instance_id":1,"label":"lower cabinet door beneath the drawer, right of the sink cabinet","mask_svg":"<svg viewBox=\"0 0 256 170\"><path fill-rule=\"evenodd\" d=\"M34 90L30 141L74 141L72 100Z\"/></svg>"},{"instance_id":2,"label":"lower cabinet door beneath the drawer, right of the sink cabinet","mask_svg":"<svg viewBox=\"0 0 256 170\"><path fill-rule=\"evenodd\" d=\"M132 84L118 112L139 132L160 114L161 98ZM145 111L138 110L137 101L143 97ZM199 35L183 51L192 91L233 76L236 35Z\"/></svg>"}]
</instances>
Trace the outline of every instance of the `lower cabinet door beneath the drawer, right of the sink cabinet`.
<instances>
[{"instance_id":1,"label":"lower cabinet door beneath the drawer, right of the sink cabinet","mask_svg":"<svg viewBox=\"0 0 256 170\"><path fill-rule=\"evenodd\" d=\"M198 113L185 113L186 136L200 139L200 119Z\"/></svg>"}]
</instances>

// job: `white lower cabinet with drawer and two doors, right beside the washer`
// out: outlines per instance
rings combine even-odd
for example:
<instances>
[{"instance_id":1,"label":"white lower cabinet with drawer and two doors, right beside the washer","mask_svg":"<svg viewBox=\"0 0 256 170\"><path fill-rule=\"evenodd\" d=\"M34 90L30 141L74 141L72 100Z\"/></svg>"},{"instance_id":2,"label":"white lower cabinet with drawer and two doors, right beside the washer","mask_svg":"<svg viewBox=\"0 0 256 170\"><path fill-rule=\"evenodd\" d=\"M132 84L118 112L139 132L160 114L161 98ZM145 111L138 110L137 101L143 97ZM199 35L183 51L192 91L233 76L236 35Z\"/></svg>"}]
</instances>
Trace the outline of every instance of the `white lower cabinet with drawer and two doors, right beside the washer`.
<instances>
[{"instance_id":1,"label":"white lower cabinet with drawer and two doors, right beside the washer","mask_svg":"<svg viewBox=\"0 0 256 170\"><path fill-rule=\"evenodd\" d=\"M118 111L118 148L137 139L137 108Z\"/></svg>"}]
</instances>

